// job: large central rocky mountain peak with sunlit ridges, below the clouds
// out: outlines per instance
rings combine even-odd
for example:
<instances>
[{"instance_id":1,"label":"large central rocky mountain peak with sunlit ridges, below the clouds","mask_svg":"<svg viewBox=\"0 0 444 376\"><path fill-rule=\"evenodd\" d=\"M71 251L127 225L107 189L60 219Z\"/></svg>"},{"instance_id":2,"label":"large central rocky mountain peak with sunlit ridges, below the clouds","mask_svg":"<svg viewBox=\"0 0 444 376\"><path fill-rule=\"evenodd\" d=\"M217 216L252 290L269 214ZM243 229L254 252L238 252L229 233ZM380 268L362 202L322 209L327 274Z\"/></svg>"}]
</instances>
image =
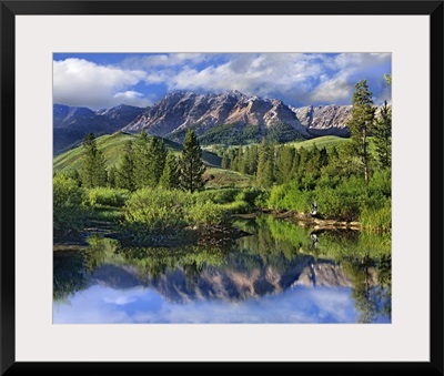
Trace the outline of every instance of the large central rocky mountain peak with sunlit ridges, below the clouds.
<instances>
[{"instance_id":1,"label":"large central rocky mountain peak with sunlit ridges, below the clouds","mask_svg":"<svg viewBox=\"0 0 444 376\"><path fill-rule=\"evenodd\" d=\"M295 134L307 135L297 116L280 100L245 95L238 90L222 94L196 94L174 91L155 103L142 116L123 129L127 132L148 133L159 136L172 136L182 141L183 132L193 126L201 135L214 126L259 125L261 132L276 123L285 123ZM180 134L180 135L178 135Z\"/></svg>"}]
</instances>

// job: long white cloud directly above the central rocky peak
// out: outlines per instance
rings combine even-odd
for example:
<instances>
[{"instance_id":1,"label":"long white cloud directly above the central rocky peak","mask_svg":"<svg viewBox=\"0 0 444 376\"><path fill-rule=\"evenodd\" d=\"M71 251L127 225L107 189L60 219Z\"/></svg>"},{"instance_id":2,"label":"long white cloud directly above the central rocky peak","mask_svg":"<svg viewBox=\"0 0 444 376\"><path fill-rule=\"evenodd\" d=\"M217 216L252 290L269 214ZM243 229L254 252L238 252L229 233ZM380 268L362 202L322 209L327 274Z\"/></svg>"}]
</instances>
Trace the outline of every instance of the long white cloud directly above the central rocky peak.
<instances>
[{"instance_id":1,"label":"long white cloud directly above the central rocky peak","mask_svg":"<svg viewBox=\"0 0 444 376\"><path fill-rule=\"evenodd\" d=\"M164 82L170 90L228 91L269 96L301 92L300 88L322 73L316 55L302 53L235 53L204 69L182 65L149 74L150 83Z\"/></svg>"}]
</instances>

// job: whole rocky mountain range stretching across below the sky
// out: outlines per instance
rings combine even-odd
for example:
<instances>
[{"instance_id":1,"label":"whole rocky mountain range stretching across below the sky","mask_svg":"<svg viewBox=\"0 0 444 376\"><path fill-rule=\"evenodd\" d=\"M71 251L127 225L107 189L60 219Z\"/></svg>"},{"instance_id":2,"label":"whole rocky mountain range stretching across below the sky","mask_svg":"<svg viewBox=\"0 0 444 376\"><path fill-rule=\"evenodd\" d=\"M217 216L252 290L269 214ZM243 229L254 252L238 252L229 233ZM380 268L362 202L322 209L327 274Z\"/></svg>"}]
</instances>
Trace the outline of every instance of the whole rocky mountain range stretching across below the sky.
<instances>
[{"instance_id":1,"label":"whole rocky mountain range stretching across below the sky","mask_svg":"<svg viewBox=\"0 0 444 376\"><path fill-rule=\"evenodd\" d=\"M193 129L201 144L240 144L307 140L320 135L347 136L351 105L293 108L279 99L245 95L239 91L198 94L173 91L148 108L118 105L93 111L88 108L53 105L54 154L80 144L83 136L115 131L183 142Z\"/></svg>"}]
</instances>

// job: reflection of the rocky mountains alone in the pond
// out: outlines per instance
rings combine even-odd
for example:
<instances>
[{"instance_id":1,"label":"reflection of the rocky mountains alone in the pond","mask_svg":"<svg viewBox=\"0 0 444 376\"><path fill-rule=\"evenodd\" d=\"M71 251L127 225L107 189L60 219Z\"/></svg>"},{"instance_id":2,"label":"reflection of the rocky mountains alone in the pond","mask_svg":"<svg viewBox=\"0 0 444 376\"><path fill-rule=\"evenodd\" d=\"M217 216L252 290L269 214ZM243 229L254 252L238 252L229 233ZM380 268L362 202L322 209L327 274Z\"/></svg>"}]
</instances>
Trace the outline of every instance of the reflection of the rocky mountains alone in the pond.
<instances>
[{"instance_id":1,"label":"reflection of the rocky mountains alone in the pond","mask_svg":"<svg viewBox=\"0 0 444 376\"><path fill-rule=\"evenodd\" d=\"M315 262L312 256L297 256L289 261L283 270L282 266L278 268L271 265L252 268L225 265L203 266L196 272L190 270L190 265L184 265L157 276L147 274L142 277L134 267L103 264L95 268L89 284L118 289L142 284L178 303L199 299L244 301L282 293L297 285L352 286L342 266L327 260Z\"/></svg>"}]
</instances>

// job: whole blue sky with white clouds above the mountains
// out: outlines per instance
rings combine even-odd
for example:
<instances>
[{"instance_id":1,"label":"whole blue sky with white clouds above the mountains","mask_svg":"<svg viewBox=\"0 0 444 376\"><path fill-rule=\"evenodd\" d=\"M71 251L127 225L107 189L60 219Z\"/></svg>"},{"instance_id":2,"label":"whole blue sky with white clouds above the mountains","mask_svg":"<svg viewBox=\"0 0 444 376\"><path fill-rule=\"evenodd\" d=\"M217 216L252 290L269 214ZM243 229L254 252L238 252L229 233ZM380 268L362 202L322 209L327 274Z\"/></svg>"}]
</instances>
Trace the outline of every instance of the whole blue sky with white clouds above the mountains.
<instances>
[{"instance_id":1,"label":"whole blue sky with white clouds above the mountains","mask_svg":"<svg viewBox=\"0 0 444 376\"><path fill-rule=\"evenodd\" d=\"M391 53L56 53L53 102L93 110L148 106L169 91L275 98L293 106L351 104L365 79L391 102Z\"/></svg>"}]
</instances>

